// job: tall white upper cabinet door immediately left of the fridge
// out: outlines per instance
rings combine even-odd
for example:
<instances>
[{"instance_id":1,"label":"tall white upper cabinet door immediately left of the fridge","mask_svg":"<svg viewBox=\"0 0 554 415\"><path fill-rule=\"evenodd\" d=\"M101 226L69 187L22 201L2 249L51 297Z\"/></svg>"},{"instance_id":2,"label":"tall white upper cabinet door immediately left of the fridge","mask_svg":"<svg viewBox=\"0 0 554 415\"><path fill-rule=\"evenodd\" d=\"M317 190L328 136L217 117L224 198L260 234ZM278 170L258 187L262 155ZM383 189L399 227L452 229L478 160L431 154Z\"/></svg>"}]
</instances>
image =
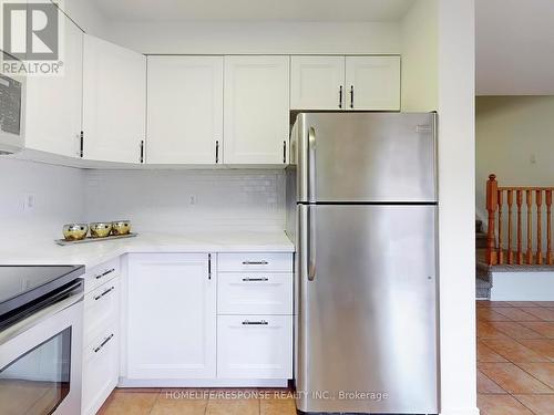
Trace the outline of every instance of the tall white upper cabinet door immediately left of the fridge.
<instances>
[{"instance_id":1,"label":"tall white upper cabinet door immediately left of the fridge","mask_svg":"<svg viewBox=\"0 0 554 415\"><path fill-rule=\"evenodd\" d=\"M226 56L224 95L225 163L286 163L289 56Z\"/></svg>"}]
</instances>

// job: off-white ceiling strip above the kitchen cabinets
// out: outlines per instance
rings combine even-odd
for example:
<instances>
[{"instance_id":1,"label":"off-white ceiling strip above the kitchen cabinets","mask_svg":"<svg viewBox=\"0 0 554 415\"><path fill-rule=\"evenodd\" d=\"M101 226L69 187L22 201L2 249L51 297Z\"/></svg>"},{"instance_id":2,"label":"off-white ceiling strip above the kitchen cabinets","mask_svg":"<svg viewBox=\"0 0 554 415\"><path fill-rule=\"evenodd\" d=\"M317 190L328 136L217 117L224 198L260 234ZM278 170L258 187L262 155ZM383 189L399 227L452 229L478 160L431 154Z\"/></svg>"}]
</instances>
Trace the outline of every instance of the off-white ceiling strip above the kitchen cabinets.
<instances>
[{"instance_id":1,"label":"off-white ceiling strip above the kitchen cabinets","mask_svg":"<svg viewBox=\"0 0 554 415\"><path fill-rule=\"evenodd\" d=\"M393 21L414 0L93 0L111 20Z\"/></svg>"}]
</instances>

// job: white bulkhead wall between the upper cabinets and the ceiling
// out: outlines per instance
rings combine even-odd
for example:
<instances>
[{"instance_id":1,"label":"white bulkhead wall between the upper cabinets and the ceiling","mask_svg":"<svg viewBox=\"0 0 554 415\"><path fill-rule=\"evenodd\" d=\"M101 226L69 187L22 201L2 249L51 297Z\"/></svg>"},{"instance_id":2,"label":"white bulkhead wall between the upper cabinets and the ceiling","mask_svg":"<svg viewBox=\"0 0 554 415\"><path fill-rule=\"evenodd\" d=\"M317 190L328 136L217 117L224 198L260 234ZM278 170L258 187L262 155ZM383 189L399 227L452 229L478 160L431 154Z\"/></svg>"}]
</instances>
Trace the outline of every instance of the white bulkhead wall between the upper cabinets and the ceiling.
<instances>
[{"instance_id":1,"label":"white bulkhead wall between the upper cabinets and the ceiling","mask_svg":"<svg viewBox=\"0 0 554 415\"><path fill-rule=\"evenodd\" d=\"M399 53L399 23L112 22L111 40L143 53Z\"/></svg>"}]
</instances>

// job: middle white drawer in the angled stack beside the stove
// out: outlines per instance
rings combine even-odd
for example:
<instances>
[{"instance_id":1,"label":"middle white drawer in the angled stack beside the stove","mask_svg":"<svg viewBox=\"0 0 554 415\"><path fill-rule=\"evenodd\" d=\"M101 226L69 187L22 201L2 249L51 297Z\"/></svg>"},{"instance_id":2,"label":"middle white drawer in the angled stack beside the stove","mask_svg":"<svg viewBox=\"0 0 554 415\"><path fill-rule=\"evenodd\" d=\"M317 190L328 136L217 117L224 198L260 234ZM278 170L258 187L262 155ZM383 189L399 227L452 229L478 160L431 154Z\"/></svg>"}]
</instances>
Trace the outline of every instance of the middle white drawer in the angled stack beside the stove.
<instances>
[{"instance_id":1,"label":"middle white drawer in the angled stack beside the stove","mask_svg":"<svg viewBox=\"0 0 554 415\"><path fill-rule=\"evenodd\" d=\"M114 278L84 297L83 344L89 344L106 326L116 324L120 309L120 279Z\"/></svg>"}]
</instances>

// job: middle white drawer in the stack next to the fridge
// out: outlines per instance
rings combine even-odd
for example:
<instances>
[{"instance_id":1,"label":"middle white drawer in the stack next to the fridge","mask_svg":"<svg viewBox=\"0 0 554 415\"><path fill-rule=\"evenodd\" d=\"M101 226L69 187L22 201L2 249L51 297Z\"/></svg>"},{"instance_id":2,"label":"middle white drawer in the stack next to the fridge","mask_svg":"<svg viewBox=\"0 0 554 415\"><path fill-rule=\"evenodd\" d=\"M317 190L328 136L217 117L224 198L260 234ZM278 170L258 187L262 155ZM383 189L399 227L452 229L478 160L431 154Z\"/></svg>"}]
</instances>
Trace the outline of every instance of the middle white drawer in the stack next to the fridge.
<instances>
[{"instance_id":1,"label":"middle white drawer in the stack next to the fridge","mask_svg":"<svg viewBox=\"0 0 554 415\"><path fill-rule=\"evenodd\" d=\"M291 273L220 273L218 314L293 314Z\"/></svg>"}]
</instances>

